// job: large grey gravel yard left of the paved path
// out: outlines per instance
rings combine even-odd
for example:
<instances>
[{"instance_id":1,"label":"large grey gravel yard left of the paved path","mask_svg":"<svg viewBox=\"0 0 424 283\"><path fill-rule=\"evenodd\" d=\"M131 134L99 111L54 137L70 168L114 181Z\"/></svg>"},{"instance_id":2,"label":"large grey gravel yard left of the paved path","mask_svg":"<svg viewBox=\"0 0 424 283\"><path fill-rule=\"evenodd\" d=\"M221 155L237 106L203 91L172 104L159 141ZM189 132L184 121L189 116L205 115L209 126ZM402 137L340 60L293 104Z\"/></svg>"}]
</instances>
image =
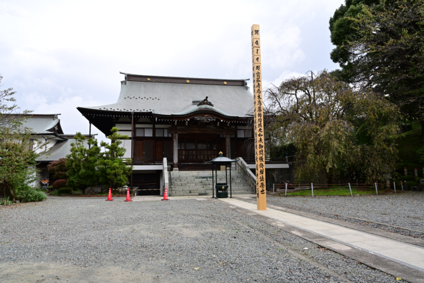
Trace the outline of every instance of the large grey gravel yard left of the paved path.
<instances>
[{"instance_id":1,"label":"large grey gravel yard left of the paved path","mask_svg":"<svg viewBox=\"0 0 424 283\"><path fill-rule=\"evenodd\" d=\"M0 227L0 282L340 282L276 242L352 282L399 282L211 200L49 199L0 209Z\"/></svg>"}]
</instances>

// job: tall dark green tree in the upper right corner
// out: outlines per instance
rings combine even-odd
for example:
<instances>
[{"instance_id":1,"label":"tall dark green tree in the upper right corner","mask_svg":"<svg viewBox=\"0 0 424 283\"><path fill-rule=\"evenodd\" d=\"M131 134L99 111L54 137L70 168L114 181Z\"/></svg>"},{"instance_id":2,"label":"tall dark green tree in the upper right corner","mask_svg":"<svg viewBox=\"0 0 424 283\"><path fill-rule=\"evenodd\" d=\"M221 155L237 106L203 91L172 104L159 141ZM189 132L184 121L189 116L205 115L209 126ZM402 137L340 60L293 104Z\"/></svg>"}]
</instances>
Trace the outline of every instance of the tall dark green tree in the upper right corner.
<instances>
[{"instance_id":1,"label":"tall dark green tree in the upper right corner","mask_svg":"<svg viewBox=\"0 0 424 283\"><path fill-rule=\"evenodd\" d=\"M346 0L330 19L334 73L418 119L424 137L424 0Z\"/></svg>"}]
</instances>

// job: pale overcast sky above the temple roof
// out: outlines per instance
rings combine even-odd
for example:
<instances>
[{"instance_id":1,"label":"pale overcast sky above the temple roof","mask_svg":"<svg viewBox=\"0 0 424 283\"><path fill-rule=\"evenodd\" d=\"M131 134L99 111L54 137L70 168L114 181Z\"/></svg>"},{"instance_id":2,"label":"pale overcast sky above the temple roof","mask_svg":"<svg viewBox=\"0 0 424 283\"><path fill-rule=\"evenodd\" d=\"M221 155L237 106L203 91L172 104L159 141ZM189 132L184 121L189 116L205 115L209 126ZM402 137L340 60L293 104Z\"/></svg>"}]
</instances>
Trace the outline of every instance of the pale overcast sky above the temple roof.
<instances>
[{"instance_id":1,"label":"pale overcast sky above the temple roof","mask_svg":"<svg viewBox=\"0 0 424 283\"><path fill-rule=\"evenodd\" d=\"M0 0L2 89L17 91L21 109L61 113L65 133L88 133L76 107L116 102L120 71L250 78L252 24L264 86L338 68L328 22L343 2Z\"/></svg>"}]
</instances>

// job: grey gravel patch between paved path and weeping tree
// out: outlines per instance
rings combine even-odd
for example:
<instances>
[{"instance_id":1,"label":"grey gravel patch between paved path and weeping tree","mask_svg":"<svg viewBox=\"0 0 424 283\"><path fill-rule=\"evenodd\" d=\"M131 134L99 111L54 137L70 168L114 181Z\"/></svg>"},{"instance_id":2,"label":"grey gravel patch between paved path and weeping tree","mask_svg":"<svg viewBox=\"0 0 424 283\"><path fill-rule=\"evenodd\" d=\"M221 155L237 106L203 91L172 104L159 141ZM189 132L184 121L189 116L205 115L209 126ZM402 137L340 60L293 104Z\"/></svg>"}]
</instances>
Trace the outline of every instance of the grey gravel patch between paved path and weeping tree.
<instances>
[{"instance_id":1,"label":"grey gravel patch between paved path and weeping tree","mask_svg":"<svg viewBox=\"0 0 424 283\"><path fill-rule=\"evenodd\" d=\"M366 197L268 197L269 204L424 240L424 194ZM328 213L326 213L328 212ZM331 214L330 214L331 213ZM334 215L336 214L336 215ZM360 218L361 221L350 217ZM403 227L395 228L370 221ZM411 231L413 229L417 231ZM421 232L422 231L422 232Z\"/></svg>"}]
</instances>

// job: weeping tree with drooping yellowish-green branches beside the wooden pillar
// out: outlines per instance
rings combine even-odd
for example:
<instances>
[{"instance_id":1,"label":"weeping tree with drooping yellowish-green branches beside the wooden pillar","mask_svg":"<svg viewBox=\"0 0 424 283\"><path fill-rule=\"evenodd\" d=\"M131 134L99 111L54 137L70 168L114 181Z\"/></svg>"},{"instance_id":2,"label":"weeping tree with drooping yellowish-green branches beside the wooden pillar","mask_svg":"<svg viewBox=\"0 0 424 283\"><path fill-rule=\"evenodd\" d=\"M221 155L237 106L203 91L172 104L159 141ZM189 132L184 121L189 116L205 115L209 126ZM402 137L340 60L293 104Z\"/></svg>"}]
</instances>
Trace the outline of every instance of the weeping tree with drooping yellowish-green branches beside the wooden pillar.
<instances>
[{"instance_id":1,"label":"weeping tree with drooping yellowish-green branches beside the wooden pillar","mask_svg":"<svg viewBox=\"0 0 424 283\"><path fill-rule=\"evenodd\" d=\"M285 80L268 88L265 97L267 140L294 142L298 181L327 183L346 170L376 180L394 165L392 137L399 112L378 95L354 89L323 71ZM365 152L371 156L363 156ZM366 163L373 168L358 165Z\"/></svg>"}]
</instances>

